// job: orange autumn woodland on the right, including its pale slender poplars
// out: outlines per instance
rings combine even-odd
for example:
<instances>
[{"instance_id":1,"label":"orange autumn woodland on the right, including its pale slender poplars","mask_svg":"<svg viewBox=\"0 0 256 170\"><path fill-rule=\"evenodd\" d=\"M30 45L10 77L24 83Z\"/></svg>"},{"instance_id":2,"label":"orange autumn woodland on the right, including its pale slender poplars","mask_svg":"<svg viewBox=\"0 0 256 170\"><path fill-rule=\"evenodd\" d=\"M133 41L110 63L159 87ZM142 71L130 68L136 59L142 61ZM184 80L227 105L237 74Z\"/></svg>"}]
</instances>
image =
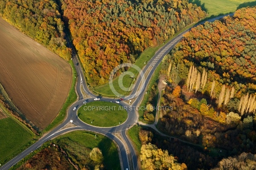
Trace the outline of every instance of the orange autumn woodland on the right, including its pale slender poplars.
<instances>
[{"instance_id":1,"label":"orange autumn woodland on the right, including its pale slender poplars","mask_svg":"<svg viewBox=\"0 0 256 170\"><path fill-rule=\"evenodd\" d=\"M252 116L256 111L255 12L256 7L241 8L233 17L187 32L165 58L169 82L211 96L221 111Z\"/></svg>"}]
</instances>

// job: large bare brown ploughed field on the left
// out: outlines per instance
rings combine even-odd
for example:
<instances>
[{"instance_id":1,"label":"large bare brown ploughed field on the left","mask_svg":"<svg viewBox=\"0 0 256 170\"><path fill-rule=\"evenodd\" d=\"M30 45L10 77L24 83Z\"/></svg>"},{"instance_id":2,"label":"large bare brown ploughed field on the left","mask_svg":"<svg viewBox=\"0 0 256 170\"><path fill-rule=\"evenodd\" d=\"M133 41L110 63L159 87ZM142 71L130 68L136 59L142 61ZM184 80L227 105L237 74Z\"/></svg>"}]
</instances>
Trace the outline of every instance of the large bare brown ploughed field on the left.
<instances>
[{"instance_id":1,"label":"large bare brown ploughed field on the left","mask_svg":"<svg viewBox=\"0 0 256 170\"><path fill-rule=\"evenodd\" d=\"M70 89L70 65L0 18L0 83L41 130L57 116Z\"/></svg>"}]
</instances>

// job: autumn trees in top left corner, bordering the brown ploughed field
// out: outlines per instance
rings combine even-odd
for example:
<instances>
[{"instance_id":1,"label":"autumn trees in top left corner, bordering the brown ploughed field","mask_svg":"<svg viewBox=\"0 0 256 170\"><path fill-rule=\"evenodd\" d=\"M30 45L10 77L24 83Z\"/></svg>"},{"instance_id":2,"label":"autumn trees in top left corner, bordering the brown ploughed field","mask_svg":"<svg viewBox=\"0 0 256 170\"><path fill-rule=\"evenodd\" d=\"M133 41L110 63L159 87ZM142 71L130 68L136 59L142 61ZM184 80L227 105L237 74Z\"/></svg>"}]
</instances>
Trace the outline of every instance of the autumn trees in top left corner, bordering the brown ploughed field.
<instances>
[{"instance_id":1,"label":"autumn trees in top left corner, bordering the brown ploughed field","mask_svg":"<svg viewBox=\"0 0 256 170\"><path fill-rule=\"evenodd\" d=\"M1 0L0 17L60 57L71 58L55 0Z\"/></svg>"}]
</instances>

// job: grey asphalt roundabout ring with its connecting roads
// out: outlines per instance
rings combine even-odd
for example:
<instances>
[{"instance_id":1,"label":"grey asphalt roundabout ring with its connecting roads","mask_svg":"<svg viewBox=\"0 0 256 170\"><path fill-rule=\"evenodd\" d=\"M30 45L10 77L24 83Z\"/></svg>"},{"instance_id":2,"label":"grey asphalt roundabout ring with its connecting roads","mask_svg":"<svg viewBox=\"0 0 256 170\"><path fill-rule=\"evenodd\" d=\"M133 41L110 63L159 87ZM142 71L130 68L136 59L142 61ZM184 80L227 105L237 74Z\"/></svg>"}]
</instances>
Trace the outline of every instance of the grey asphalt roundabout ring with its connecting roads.
<instances>
[{"instance_id":1,"label":"grey asphalt roundabout ring with its connecting roads","mask_svg":"<svg viewBox=\"0 0 256 170\"><path fill-rule=\"evenodd\" d=\"M233 15L233 14L227 14L227 15ZM227 16L227 15L223 15L220 17L216 17L210 20L207 20L208 22L212 22L214 20L218 20L221 17ZM206 22L206 21L205 21ZM203 22L204 23L204 22ZM203 24L200 23L200 24ZM199 24L198 24L199 25ZM197 26L197 25L196 25ZM77 71L77 85L76 85L76 91L79 95L78 97L78 101L76 103L74 103L69 111L68 111L68 115L67 115L67 119L65 119L64 122L62 122L60 125L58 125L57 127L55 127L52 131L50 131L49 133L47 133L46 135L44 135L43 137L41 137L41 139L38 140L38 142L36 142L35 144L33 144L32 146L30 146L29 148L27 148L26 150L24 150L22 153L20 153L18 156L16 156L15 158L13 158L11 161L7 162L5 165L3 165L2 167L0 167L0 170L7 170L10 167L12 167L14 164L17 164L18 161L20 161L21 159L23 159L25 156L29 155L29 153L32 153L32 151L36 150L38 147L40 147L42 144L44 144L44 142L47 142L48 140L52 139L53 137L56 137L62 133L68 132L70 130L90 130L93 131L95 133L102 133L105 134L106 136L108 136L110 139L114 140L120 149L121 152L121 156L122 156L122 164L123 164L123 168L124 170L126 168L130 169L134 169L134 170L138 170L138 164L137 164L137 156L136 156L136 152L134 150L133 145L131 144L131 141L127 138L127 136L125 135L125 130L127 130L127 128L135 125L137 123L137 114L135 113L135 110L130 109L131 107L136 107L139 105L140 101L143 99L143 94L145 93L145 91L147 90L145 88L146 85L148 85L155 69L157 68L157 66L160 64L161 60L163 59L163 57L169 53L169 51L172 50L172 48L182 39L182 35L184 33L186 33L187 31L189 31L191 28L187 29L186 31L183 31L182 33L180 33L179 35L177 35L175 38L173 38L172 40L170 40L166 45L164 45L155 55L154 57L151 58L151 60L147 63L147 65L145 65L145 67L143 68L143 73L146 72L146 70L151 67L151 71L148 74L148 77L145 77L145 82L142 82L142 78L138 77L137 81L135 82L134 85L134 90L131 92L131 95L129 95L128 97L126 97L125 99L131 99L131 98L136 98L135 101L132 103L132 105L128 105L125 102L120 102L119 105L122 105L124 107L127 107L127 112L128 112L128 118L126 119L125 122L123 122L121 125L115 126L115 127L95 127L93 125L88 125L84 122L82 122L78 116L77 116L77 110L79 107L83 106L83 102L87 101L87 102L95 102L93 100L93 98L95 97L99 97L101 98L101 101L106 101L106 102L115 102L115 99L109 99L109 98L104 98L101 96L96 96L94 94L92 94L88 88L87 88L87 84L85 82L85 78L84 78L84 74L83 74L83 70L81 68L81 65L79 63L77 54L76 54L76 50L74 49L73 45L70 43L70 40L67 39L67 45L68 47L72 48L72 53L73 53L73 57L72 60L75 64L76 67L76 71ZM78 63L78 64L77 64ZM140 83L143 83L144 85L140 86ZM89 99L83 99L83 95L81 93L80 90L80 85L82 85L82 88L84 88L84 91L91 96L91 98ZM138 89L140 87L140 89ZM76 111L73 111L73 108L76 107ZM62 130L62 128L67 125L70 120L73 120L73 123L77 125L77 127L70 127L67 129ZM128 148L125 148L125 144L116 136L113 135L113 133L115 132L121 132L121 135L124 139L124 141L126 142L126 144L128 145ZM128 151L127 149L130 150L131 153L131 157L132 157L132 165L133 167L129 166L129 160L128 160Z\"/></svg>"}]
</instances>

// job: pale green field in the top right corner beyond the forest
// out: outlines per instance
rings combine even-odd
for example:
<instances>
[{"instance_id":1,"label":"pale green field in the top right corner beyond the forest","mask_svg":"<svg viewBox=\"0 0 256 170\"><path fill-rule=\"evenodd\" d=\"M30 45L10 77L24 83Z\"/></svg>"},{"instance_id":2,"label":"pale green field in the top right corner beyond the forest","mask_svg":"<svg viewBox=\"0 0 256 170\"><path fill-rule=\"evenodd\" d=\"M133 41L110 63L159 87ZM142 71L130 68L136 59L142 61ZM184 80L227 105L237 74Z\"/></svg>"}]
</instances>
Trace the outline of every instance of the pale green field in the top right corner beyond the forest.
<instances>
[{"instance_id":1,"label":"pale green field in the top right corner beyond the forest","mask_svg":"<svg viewBox=\"0 0 256 170\"><path fill-rule=\"evenodd\" d=\"M209 17L235 12L239 8L256 6L255 0L189 0L207 12Z\"/></svg>"}]
</instances>

